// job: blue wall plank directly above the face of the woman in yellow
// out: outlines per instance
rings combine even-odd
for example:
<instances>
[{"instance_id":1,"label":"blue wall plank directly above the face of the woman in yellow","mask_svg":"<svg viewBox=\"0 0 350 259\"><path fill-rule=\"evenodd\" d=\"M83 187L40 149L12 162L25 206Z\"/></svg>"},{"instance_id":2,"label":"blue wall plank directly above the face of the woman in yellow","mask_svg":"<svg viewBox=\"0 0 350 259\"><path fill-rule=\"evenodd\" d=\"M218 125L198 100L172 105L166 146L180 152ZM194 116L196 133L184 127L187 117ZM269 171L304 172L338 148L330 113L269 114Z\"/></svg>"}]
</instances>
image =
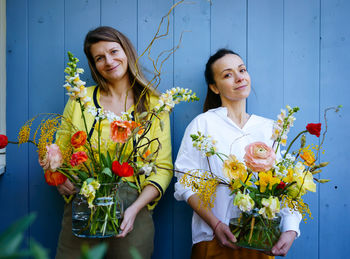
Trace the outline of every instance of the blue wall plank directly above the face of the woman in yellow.
<instances>
[{"instance_id":1,"label":"blue wall plank directly above the face of the woman in yellow","mask_svg":"<svg viewBox=\"0 0 350 259\"><path fill-rule=\"evenodd\" d=\"M137 0L101 0L101 25L116 28L137 49Z\"/></svg>"}]
</instances>

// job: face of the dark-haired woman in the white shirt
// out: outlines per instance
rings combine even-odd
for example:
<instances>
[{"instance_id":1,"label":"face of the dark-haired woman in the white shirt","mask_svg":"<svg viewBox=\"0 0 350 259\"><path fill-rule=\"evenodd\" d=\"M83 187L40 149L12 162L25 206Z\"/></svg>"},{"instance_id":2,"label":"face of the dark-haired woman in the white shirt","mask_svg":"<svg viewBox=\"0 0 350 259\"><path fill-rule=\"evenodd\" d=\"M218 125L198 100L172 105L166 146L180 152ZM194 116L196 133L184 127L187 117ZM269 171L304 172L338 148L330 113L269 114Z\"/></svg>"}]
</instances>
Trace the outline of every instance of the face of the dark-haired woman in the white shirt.
<instances>
[{"instance_id":1,"label":"face of the dark-haired woman in the white shirt","mask_svg":"<svg viewBox=\"0 0 350 259\"><path fill-rule=\"evenodd\" d=\"M222 106L246 99L250 93L250 76L243 60L227 54L212 64L214 84L210 89L220 95Z\"/></svg>"}]
</instances>

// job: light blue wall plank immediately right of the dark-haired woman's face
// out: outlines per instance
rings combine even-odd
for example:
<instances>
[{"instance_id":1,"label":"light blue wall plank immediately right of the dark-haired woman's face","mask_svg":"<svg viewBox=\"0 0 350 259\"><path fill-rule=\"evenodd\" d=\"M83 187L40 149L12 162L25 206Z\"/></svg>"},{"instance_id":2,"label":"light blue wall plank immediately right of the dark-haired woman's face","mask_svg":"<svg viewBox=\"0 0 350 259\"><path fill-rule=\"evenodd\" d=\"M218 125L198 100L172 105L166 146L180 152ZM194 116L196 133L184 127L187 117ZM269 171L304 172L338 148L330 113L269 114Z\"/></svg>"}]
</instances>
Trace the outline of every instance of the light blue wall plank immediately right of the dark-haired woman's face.
<instances>
[{"instance_id":1,"label":"light blue wall plank immediately right of the dark-haired woman's face","mask_svg":"<svg viewBox=\"0 0 350 259\"><path fill-rule=\"evenodd\" d=\"M248 1L248 112L274 118L283 106L283 1Z\"/></svg>"}]
</instances>

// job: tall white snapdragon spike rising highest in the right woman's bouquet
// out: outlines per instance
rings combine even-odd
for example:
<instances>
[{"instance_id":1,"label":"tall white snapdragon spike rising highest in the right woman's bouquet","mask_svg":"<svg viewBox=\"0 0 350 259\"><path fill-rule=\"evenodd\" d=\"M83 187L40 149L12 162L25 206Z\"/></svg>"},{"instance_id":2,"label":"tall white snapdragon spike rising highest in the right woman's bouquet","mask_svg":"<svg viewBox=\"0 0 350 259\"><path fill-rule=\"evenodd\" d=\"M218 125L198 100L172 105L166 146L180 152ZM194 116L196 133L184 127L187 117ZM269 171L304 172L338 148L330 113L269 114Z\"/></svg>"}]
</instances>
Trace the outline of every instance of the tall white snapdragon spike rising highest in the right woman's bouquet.
<instances>
[{"instance_id":1,"label":"tall white snapdragon spike rising highest in the right woman's bouquet","mask_svg":"<svg viewBox=\"0 0 350 259\"><path fill-rule=\"evenodd\" d=\"M287 144L287 134L291 127L294 125L295 117L293 113L296 108L291 108L289 105L286 106L286 110L281 109L281 113L277 116L277 121L275 121L272 130L271 139L274 141L280 141L282 146Z\"/></svg>"}]
</instances>

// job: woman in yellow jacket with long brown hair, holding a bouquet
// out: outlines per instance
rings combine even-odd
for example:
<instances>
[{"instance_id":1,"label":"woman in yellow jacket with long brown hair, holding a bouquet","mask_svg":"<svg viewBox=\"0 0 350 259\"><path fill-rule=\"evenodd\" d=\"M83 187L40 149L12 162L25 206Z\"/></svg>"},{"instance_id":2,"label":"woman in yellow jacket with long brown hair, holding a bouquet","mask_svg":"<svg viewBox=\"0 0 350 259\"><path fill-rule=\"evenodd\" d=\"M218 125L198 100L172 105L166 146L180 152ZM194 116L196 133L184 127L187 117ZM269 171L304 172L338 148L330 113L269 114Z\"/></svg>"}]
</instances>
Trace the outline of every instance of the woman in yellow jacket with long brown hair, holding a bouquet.
<instances>
[{"instance_id":1,"label":"woman in yellow jacket with long brown hair, holding a bouquet","mask_svg":"<svg viewBox=\"0 0 350 259\"><path fill-rule=\"evenodd\" d=\"M85 38L84 52L87 56L91 74L96 86L87 88L87 96L91 98L93 106L103 108L120 116L122 112L142 113L154 107L158 102L157 94L149 89L140 68L136 63L137 54L129 39L111 27L98 27L90 31ZM136 83L131 87L133 81ZM147 94L141 92L147 89ZM140 100L140 101L139 101ZM91 138L97 137L94 131L95 117L84 112L88 132ZM84 130L79 104L69 100L64 117L71 120L79 130ZM163 113L160 118L164 122L163 131L158 124L154 124L147 133L150 139L158 138L162 149L157 157L157 165L162 168L172 168L171 139L169 115ZM57 142L63 146L74 132L59 132ZM109 137L109 122L102 121L102 139ZM151 151L156 147L151 146ZM135 189L124 187L123 196L125 207L121 233L115 238L107 238L107 258L132 258L130 248L134 247L142 258L150 258L153 251L154 225L152 209L162 197L172 178L171 170L157 170L157 174L149 176L131 176L130 181L141 187L138 193ZM57 187L60 194L75 193L73 184L67 180ZM81 246L88 243L90 246L100 240L78 238L72 234L71 205L67 204L64 210L62 230L57 246L56 258L78 258Z\"/></svg>"}]
</instances>

